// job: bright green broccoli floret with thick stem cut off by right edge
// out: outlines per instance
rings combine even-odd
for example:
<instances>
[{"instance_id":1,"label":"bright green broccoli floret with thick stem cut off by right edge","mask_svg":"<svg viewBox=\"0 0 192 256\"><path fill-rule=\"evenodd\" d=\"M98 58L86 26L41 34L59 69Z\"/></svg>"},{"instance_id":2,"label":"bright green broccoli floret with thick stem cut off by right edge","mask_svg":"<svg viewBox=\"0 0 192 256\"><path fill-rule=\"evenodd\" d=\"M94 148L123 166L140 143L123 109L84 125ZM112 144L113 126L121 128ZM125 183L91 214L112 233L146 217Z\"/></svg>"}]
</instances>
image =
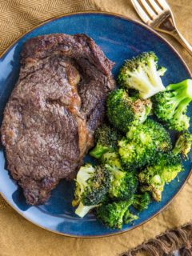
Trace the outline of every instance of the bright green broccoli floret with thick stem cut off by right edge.
<instances>
[{"instance_id":1,"label":"bright green broccoli floret with thick stem cut off by right edge","mask_svg":"<svg viewBox=\"0 0 192 256\"><path fill-rule=\"evenodd\" d=\"M187 130L190 118L186 116L186 110L191 100L192 80L170 84L165 91L154 95L154 114L170 130Z\"/></svg>"}]
</instances>

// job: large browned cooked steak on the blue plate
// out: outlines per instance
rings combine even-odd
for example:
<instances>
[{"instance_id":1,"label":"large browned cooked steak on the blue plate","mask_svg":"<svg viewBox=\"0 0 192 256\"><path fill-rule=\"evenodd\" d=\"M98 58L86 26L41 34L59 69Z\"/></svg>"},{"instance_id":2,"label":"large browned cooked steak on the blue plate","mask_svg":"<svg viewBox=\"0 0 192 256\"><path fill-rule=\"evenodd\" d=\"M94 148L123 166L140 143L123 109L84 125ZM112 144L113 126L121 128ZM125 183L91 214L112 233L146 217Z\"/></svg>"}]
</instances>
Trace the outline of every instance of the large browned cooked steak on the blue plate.
<instances>
[{"instance_id":1,"label":"large browned cooked steak on the blue plate","mask_svg":"<svg viewBox=\"0 0 192 256\"><path fill-rule=\"evenodd\" d=\"M23 46L1 132L7 169L28 204L75 177L114 89L113 65L86 34L42 35Z\"/></svg>"}]
</instances>

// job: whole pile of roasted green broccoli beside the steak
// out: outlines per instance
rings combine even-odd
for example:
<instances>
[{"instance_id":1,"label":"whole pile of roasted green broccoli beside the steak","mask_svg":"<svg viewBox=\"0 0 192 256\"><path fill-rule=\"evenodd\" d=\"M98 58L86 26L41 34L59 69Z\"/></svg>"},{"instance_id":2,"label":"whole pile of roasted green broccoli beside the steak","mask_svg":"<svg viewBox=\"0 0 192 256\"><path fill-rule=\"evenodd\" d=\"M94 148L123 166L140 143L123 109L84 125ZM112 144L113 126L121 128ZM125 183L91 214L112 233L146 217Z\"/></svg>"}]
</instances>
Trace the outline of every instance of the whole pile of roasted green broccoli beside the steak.
<instances>
[{"instance_id":1,"label":"whole pile of roasted green broccoli beside the steak","mask_svg":"<svg viewBox=\"0 0 192 256\"><path fill-rule=\"evenodd\" d=\"M111 126L96 130L90 150L98 165L82 166L75 179L72 205L77 206L78 216L94 209L105 226L121 229L138 219L132 207L140 212L148 208L151 198L160 202L165 185L183 170L182 158L187 158L192 146L186 116L192 80L165 88L161 79L165 72L164 67L158 69L153 52L139 54L122 66L118 74L122 89L112 91L106 101ZM164 126L148 118L152 110L166 127L182 131L174 149Z\"/></svg>"}]
</instances>

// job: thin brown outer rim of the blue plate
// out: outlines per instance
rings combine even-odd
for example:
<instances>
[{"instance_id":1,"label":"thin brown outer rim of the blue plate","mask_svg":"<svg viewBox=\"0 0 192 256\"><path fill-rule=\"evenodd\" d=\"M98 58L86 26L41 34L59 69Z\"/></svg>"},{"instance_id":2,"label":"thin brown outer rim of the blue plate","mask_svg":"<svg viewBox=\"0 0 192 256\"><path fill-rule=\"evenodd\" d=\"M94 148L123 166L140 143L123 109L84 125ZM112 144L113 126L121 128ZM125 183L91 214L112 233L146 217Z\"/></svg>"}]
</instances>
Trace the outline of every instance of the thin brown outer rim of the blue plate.
<instances>
[{"instance_id":1,"label":"thin brown outer rim of the blue plate","mask_svg":"<svg viewBox=\"0 0 192 256\"><path fill-rule=\"evenodd\" d=\"M46 21L41 22L37 26L34 26L32 29L27 30L20 37L16 38L14 40L14 42L12 42L10 44L10 46L8 46L6 48L6 50L4 50L2 52L2 54L0 54L0 60L4 57L4 55L6 55L9 52L9 50L11 50L11 48L14 46L15 43L17 43L20 39L22 39L24 36L26 36L26 34L30 34L33 30L36 30L38 27L46 25L46 23L49 23L49 22L54 22L55 20L57 20L59 18L70 17L70 16L80 15L80 14L101 14L101 15L104 15L104 16L106 15L106 16L122 18L122 19L125 19L127 21L134 22L134 23L138 24L139 26L144 27L146 30L150 30L151 33L155 34L163 42L166 42L166 45L169 46L172 51L174 51L174 54L176 54L178 56L178 58L180 58L180 60L182 61L182 64L186 68L186 71L189 73L190 78L192 78L192 73L190 72L190 68L187 66L186 61L184 60L184 58L182 58L181 54L178 53L178 50L176 50L174 48L174 46L172 46L171 43L166 38L164 38L161 34L159 34L157 31L153 30L152 28L150 28L150 26L147 26L146 24L144 24L144 23L142 23L142 22L140 22L138 20L135 20L134 18L130 18L129 16L122 15L122 14L116 14L116 13L113 13L113 12L97 11L97 10L90 10L90 11L89 10L85 10L85 11L78 11L78 12L70 12L70 13L67 13L67 14L62 14L62 15L55 16L53 18L49 18ZM139 223L136 226L130 227L128 230L119 230L118 232L115 232L115 233L102 234L102 235L85 235L84 236L84 235L64 234L62 232L58 232L57 230L50 230L50 229L46 228L45 226L40 226L37 223L35 223L34 221L31 221L29 218L27 218L25 216L25 214L22 214L22 212L20 212L15 206L11 205L11 203L9 201L7 201L6 197L4 196L4 194L1 191L0 191L0 195L8 203L8 205L11 206L11 208L14 209L19 215L21 215L27 221L33 223L35 226L38 226L38 227L42 228L43 230L47 230L47 231L50 231L50 232L52 232L54 234L60 234L60 235L63 235L63 236L66 236L66 237L70 237L70 238L106 238L106 237L110 237L110 236L114 236L114 235L118 235L118 234L123 234L123 233L126 233L126 232L130 231L130 230L134 230L134 229L138 228L139 226L142 226L146 222L149 222L154 217L156 217L158 214L160 214L163 210L166 209L167 206L170 205L171 202L174 201L174 198L176 198L178 196L178 194L182 191L183 187L186 185L186 182L189 180L191 174L192 174L192 167L190 168L190 173L186 177L185 182L183 182L183 184L180 187L180 189L178 190L178 192L176 194L174 194L174 197L171 198L170 201L167 202L165 206L163 206L160 210L158 210L157 213L155 213L154 215L150 216L150 218L147 218L145 221L143 221L142 223Z\"/></svg>"}]
</instances>

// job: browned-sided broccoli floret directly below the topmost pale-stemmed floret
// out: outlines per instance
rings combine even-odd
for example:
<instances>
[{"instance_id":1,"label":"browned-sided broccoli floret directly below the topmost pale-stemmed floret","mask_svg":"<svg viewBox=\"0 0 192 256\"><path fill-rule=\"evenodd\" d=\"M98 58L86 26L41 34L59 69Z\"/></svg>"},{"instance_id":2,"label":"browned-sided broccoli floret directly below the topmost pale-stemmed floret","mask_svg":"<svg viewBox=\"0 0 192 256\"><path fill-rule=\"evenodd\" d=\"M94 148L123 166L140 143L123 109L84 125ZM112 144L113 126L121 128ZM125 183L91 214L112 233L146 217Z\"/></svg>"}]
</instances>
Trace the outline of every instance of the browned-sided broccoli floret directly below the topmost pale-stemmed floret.
<instances>
[{"instance_id":1,"label":"browned-sided broccoli floret directly below the topmost pale-stemmed floret","mask_svg":"<svg viewBox=\"0 0 192 256\"><path fill-rule=\"evenodd\" d=\"M118 89L112 91L107 98L106 113L110 123L126 133L130 126L145 122L151 108L149 99L130 97L126 90Z\"/></svg>"}]
</instances>

